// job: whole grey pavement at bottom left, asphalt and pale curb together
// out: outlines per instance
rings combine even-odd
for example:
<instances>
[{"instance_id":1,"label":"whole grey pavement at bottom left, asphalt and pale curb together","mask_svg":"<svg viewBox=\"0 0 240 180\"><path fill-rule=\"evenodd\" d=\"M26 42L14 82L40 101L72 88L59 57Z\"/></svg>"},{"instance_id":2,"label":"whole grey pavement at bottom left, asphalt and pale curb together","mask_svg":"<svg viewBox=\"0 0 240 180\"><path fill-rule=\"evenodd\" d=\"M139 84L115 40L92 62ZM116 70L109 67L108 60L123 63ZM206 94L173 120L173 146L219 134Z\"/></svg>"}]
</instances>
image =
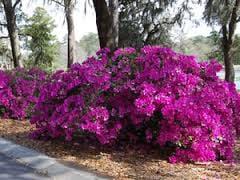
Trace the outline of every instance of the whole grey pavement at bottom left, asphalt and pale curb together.
<instances>
[{"instance_id":1,"label":"whole grey pavement at bottom left, asphalt and pale curb together","mask_svg":"<svg viewBox=\"0 0 240 180\"><path fill-rule=\"evenodd\" d=\"M42 172L48 177L35 172ZM110 177L64 166L54 158L0 137L0 180L5 179L106 180Z\"/></svg>"}]
</instances>

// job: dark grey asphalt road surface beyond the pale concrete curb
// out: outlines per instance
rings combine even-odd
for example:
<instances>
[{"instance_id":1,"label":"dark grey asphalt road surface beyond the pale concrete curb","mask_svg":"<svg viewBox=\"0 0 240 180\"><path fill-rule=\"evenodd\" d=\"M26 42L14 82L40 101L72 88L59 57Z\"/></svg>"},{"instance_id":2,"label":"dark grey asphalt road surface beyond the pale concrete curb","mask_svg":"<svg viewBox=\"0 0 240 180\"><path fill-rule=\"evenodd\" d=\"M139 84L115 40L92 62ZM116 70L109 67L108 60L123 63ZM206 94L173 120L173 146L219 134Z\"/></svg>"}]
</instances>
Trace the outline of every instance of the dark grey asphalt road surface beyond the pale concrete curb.
<instances>
[{"instance_id":1,"label":"dark grey asphalt road surface beyond the pale concrete curb","mask_svg":"<svg viewBox=\"0 0 240 180\"><path fill-rule=\"evenodd\" d=\"M49 180L50 178L34 173L31 168L21 165L0 154L0 180Z\"/></svg>"}]
</instances>

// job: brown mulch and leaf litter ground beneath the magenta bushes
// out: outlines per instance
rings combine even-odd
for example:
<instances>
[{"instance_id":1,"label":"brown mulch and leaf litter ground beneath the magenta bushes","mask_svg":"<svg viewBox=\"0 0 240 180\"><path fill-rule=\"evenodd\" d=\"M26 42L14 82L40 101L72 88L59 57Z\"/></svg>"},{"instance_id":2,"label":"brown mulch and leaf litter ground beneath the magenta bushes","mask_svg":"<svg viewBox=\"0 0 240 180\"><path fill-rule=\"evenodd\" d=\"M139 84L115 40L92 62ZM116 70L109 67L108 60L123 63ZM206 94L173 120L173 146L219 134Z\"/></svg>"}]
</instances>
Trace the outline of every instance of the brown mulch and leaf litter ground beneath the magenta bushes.
<instances>
[{"instance_id":1,"label":"brown mulch and leaf litter ground beneath the magenta bushes","mask_svg":"<svg viewBox=\"0 0 240 180\"><path fill-rule=\"evenodd\" d=\"M97 144L29 139L28 121L1 120L0 137L36 149L59 161L113 179L240 179L240 145L232 164L170 164L159 152L102 148Z\"/></svg>"}]
</instances>

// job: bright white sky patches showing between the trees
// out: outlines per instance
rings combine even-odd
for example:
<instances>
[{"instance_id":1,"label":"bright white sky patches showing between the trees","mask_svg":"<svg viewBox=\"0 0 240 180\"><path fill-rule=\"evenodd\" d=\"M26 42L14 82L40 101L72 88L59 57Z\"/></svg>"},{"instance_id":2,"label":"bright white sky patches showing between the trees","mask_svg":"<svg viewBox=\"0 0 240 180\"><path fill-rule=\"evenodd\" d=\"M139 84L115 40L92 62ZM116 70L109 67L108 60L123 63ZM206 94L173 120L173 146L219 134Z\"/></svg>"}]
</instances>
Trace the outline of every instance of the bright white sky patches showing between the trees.
<instances>
[{"instance_id":1,"label":"bright white sky patches showing between the trees","mask_svg":"<svg viewBox=\"0 0 240 180\"><path fill-rule=\"evenodd\" d=\"M34 1L34 3L29 3ZM64 13L61 7L56 8L56 5L53 3L52 5L43 5L43 0L23 0L23 11L31 16L36 7L44 7L49 14L54 18L55 24L57 25L54 30L54 34L57 35L59 40L63 40L64 36L67 33L66 23L64 23ZM203 13L203 6L194 5L193 7L193 19L197 20L200 25L194 24L190 20L185 21L184 26L184 35L186 37L192 37L196 35L207 36L211 32L212 28L207 26L206 23L201 20ZM95 12L93 8L88 8L87 13L84 13L84 1L82 0L80 4L77 5L77 8L74 12L75 18L75 33L76 40L79 40L83 35L89 32L97 32L96 22L95 22ZM173 30L174 36L178 36L179 28L175 28ZM237 32L239 33L239 28L237 28Z\"/></svg>"}]
</instances>

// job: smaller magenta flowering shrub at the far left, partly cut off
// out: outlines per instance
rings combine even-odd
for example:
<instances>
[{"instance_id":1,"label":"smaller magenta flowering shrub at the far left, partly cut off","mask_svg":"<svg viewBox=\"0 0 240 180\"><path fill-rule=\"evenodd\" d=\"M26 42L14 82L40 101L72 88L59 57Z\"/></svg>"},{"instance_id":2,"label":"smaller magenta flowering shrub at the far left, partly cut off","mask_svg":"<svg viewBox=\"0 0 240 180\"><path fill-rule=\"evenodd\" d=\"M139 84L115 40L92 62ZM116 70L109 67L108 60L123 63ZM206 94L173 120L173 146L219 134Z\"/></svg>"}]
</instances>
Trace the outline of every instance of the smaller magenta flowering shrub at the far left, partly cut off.
<instances>
[{"instance_id":1,"label":"smaller magenta flowering shrub at the far left, partly cut off","mask_svg":"<svg viewBox=\"0 0 240 180\"><path fill-rule=\"evenodd\" d=\"M45 77L39 69L0 71L0 117L28 117Z\"/></svg>"}]
</instances>

